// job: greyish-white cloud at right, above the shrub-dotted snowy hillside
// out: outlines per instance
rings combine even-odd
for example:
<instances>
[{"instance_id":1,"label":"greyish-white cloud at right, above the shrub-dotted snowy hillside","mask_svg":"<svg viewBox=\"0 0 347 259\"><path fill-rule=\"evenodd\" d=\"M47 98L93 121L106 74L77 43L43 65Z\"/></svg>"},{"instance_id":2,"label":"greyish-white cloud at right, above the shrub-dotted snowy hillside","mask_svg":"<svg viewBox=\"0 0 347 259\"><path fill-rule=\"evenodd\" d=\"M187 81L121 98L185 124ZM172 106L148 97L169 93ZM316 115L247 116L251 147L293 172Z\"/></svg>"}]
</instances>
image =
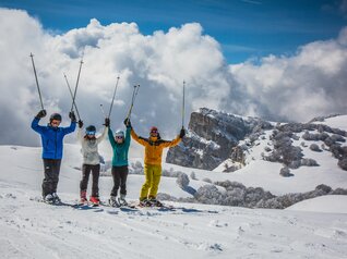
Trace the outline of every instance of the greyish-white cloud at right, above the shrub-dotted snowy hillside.
<instances>
[{"instance_id":1,"label":"greyish-white cloud at right, above the shrub-dotted snowy hillside","mask_svg":"<svg viewBox=\"0 0 347 259\"><path fill-rule=\"evenodd\" d=\"M225 104L241 113L271 120L308 121L346 113L347 29L336 39L302 46L292 57L270 55L230 65L234 90ZM239 98L240 97L240 98Z\"/></svg>"}]
</instances>

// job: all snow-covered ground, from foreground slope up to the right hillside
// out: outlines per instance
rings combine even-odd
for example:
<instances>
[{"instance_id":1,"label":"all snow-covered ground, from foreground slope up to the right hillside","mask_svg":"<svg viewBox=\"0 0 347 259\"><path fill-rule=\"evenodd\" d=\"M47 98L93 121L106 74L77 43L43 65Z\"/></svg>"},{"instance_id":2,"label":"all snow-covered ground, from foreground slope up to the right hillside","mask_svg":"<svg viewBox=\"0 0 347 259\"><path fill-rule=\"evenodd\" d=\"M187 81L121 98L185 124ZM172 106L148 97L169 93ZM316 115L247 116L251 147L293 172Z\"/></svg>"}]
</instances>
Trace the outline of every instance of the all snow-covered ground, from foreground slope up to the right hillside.
<instances>
[{"instance_id":1,"label":"all snow-covered ground, from foreground slope up to the right hillside","mask_svg":"<svg viewBox=\"0 0 347 259\"><path fill-rule=\"evenodd\" d=\"M313 123L346 131L346 122L347 116L334 116ZM103 206L79 210L37 202L44 175L40 148L0 146L0 257L347 258L347 195L340 195L347 188L347 172L326 146L322 148L324 140L314 140L321 151L310 149L313 140L304 140L303 131L296 133L299 139L290 137L290 143L301 148L302 158L319 166L292 169L288 164L294 176L282 176L284 163L264 159L275 150L271 140L275 127L284 126L271 124L274 128L267 124L268 130L253 143L248 137L238 141L246 156L235 172L223 172L239 165L232 159L222 161L214 171L164 163L159 194L175 210ZM103 156L107 161L111 158L108 152ZM131 201L137 199L144 176L142 159L133 158L132 152L130 157ZM70 205L79 196L79 168L80 146L65 145L58 193ZM103 175L100 198L106 200L112 180L108 172ZM248 205L256 207L254 200L260 197L259 205L273 208L303 201L285 210L217 205L250 201Z\"/></svg>"}]
</instances>

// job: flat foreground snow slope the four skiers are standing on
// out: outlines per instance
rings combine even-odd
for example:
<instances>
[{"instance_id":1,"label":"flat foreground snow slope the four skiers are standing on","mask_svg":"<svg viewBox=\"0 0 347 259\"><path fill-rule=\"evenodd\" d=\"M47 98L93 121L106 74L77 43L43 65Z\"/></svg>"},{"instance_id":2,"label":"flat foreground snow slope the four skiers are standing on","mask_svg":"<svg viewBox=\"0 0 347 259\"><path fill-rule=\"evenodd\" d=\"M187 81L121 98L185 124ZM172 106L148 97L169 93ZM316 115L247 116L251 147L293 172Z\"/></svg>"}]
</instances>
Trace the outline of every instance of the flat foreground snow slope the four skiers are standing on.
<instances>
[{"instance_id":1,"label":"flat foreground snow slope the four skiers are standing on","mask_svg":"<svg viewBox=\"0 0 347 259\"><path fill-rule=\"evenodd\" d=\"M81 162L79 150L65 146L58 186L62 200L71 205L79 194L81 171L74 169ZM40 194L39 148L0 146L0 166L1 258L347 258L343 209L322 213L168 202L175 211L79 210L32 200ZM196 172L198 178L203 176L200 173L207 174ZM210 175L217 180L231 174ZM142 182L143 175L130 175L130 199L136 199ZM202 184L192 182L196 188ZM111 178L101 177L103 199L110 187ZM187 195L175 178L167 177L159 192ZM322 206L326 202L312 203L316 211Z\"/></svg>"}]
</instances>

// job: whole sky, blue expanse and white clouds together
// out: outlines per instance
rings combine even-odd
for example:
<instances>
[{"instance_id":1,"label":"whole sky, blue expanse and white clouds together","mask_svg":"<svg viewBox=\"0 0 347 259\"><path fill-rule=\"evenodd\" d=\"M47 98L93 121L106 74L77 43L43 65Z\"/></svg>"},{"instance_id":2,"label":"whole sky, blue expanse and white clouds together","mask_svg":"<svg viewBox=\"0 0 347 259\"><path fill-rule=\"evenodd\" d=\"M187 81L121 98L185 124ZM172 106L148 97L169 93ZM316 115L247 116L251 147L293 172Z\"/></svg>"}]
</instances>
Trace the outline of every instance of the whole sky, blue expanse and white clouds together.
<instances>
[{"instance_id":1,"label":"whole sky, blue expanse and white clouds together","mask_svg":"<svg viewBox=\"0 0 347 259\"><path fill-rule=\"evenodd\" d=\"M69 124L75 86L85 125L100 104L123 128L133 86L137 134L166 139L207 107L272 121L346 113L347 1L0 1L0 144L37 146L39 111L29 53L48 114ZM47 123L45 118L41 124ZM23 134L25 131L25 134ZM68 141L73 141L73 137Z\"/></svg>"}]
</instances>

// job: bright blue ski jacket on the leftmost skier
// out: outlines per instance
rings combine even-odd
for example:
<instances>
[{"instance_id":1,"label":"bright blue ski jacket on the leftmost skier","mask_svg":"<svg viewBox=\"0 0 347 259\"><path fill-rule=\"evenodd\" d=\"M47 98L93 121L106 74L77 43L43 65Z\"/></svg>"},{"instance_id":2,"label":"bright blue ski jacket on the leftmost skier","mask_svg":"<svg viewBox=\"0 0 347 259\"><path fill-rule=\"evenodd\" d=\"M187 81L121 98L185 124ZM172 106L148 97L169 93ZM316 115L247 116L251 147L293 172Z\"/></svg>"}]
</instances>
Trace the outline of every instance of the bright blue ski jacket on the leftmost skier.
<instances>
[{"instance_id":1,"label":"bright blue ski jacket on the leftmost skier","mask_svg":"<svg viewBox=\"0 0 347 259\"><path fill-rule=\"evenodd\" d=\"M39 119L35 118L32 122L32 128L41 135L43 158L61 159L62 158L62 139L69 133L74 132L76 122L71 122L69 127L51 127L38 125Z\"/></svg>"}]
</instances>

